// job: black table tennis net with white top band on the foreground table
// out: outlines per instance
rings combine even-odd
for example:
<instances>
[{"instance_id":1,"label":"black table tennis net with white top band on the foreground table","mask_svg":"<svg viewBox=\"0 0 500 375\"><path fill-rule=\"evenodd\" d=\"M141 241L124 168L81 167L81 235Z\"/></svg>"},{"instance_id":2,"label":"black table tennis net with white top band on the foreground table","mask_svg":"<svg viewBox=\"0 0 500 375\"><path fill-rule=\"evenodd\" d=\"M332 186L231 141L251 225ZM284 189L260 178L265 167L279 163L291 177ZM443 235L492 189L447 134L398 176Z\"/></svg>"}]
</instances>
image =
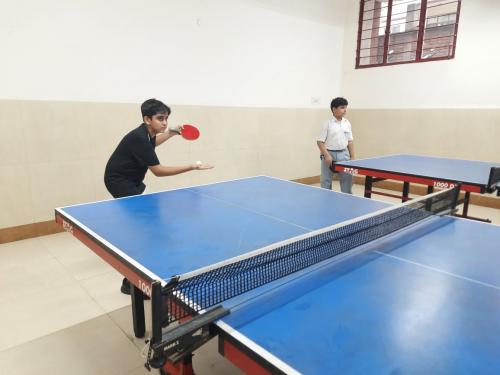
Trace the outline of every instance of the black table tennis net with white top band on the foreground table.
<instances>
[{"instance_id":1,"label":"black table tennis net with white top band on the foreground table","mask_svg":"<svg viewBox=\"0 0 500 375\"><path fill-rule=\"evenodd\" d=\"M376 240L432 215L455 209L459 187L308 233L201 270L168 285L168 322L196 315L228 299Z\"/></svg>"}]
</instances>

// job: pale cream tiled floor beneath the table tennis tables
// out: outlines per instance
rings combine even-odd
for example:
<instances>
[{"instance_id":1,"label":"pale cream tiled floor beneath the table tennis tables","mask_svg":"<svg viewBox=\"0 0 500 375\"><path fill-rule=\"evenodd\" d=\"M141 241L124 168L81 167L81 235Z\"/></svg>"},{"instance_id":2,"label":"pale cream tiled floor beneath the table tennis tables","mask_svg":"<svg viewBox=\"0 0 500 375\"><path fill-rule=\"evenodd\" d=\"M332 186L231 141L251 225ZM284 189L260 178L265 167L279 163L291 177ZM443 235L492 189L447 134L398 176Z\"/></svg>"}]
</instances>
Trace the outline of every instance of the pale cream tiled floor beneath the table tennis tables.
<instances>
[{"instance_id":1,"label":"pale cream tiled floor beneath the table tennis tables","mask_svg":"<svg viewBox=\"0 0 500 375\"><path fill-rule=\"evenodd\" d=\"M500 224L500 210L470 213ZM66 233L0 245L0 374L149 374L120 283ZM196 352L194 366L198 374L240 373L219 356L216 340Z\"/></svg>"}]
</instances>

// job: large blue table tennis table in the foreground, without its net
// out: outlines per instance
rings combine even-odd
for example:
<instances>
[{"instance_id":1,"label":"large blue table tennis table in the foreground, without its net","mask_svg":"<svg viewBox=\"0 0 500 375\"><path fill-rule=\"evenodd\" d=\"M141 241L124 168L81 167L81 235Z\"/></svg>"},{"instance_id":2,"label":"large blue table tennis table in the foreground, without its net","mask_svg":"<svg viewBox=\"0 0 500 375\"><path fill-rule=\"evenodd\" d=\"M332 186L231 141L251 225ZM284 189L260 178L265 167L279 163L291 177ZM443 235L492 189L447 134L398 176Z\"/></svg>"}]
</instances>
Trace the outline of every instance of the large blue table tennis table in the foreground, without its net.
<instances>
[{"instance_id":1,"label":"large blue table tennis table in the foreground, without its net","mask_svg":"<svg viewBox=\"0 0 500 375\"><path fill-rule=\"evenodd\" d=\"M387 209L259 176L55 215L132 282L141 337L143 293L158 318L155 297L178 275ZM499 270L499 226L433 216L224 301L210 335L251 374L499 374ZM151 336L162 334L153 321ZM180 362L161 371L192 371Z\"/></svg>"}]
</instances>

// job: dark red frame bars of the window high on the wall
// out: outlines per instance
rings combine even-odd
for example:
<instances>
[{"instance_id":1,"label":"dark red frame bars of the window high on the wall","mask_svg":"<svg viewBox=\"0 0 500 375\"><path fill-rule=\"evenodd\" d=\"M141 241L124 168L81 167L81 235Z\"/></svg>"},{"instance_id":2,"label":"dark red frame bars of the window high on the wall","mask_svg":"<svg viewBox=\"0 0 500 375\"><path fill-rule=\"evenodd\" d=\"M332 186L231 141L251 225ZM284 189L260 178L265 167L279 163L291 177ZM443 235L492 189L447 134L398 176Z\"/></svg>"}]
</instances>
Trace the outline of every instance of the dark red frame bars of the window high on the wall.
<instances>
[{"instance_id":1,"label":"dark red frame bars of the window high on the wall","mask_svg":"<svg viewBox=\"0 0 500 375\"><path fill-rule=\"evenodd\" d=\"M377 48L383 48L383 58L382 58L382 63L375 63L375 64L365 64L361 65L361 59L364 58L364 56L361 56L361 36L363 32L363 15L364 15L364 6L365 6L365 0L360 0L360 6L359 6L359 20L358 20L358 40L357 40L357 46L356 46L356 69L364 69L364 68L374 68L374 67L381 67L381 66L390 66L390 65L400 65L400 64L415 64L415 63L422 63L422 62L429 62L429 61L440 61L440 60L451 60L455 58L455 51L456 51L456 46L457 46L457 34L458 34L458 24L460 20L460 8L462 5L462 0L450 0L450 2L457 2L457 13L456 13L456 20L455 20L455 28L454 32L450 37L453 37L453 44L450 45L452 48L451 54L448 56L441 56L441 57L430 57L430 58L422 58L422 47L424 44L424 33L425 33L425 23L426 23L426 13L427 13L427 4L428 0L420 0L420 18L419 18L419 25L418 25L418 37L417 37L417 48L415 50L415 59L414 60L408 60L408 61L394 61L394 62L388 62L387 58L389 55L389 37L391 35L391 21L392 21L392 6L393 6L393 0L387 0L387 22L385 25L385 32L384 32L384 44L382 47L377 46ZM373 28L372 28L373 29ZM375 47L371 47L375 48Z\"/></svg>"}]
</instances>

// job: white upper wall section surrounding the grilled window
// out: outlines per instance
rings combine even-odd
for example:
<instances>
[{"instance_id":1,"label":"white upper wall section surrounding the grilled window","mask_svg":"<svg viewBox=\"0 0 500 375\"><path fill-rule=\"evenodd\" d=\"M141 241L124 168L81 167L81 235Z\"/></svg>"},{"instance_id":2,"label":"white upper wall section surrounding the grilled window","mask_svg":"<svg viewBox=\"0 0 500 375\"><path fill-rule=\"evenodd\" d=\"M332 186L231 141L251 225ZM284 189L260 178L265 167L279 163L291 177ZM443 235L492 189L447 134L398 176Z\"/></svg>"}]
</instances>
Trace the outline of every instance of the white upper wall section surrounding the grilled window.
<instances>
[{"instance_id":1,"label":"white upper wall section surrounding the grilled window","mask_svg":"<svg viewBox=\"0 0 500 375\"><path fill-rule=\"evenodd\" d=\"M445 61L354 69L359 1L347 17L341 91L351 107L500 107L500 1L462 1L455 58Z\"/></svg>"}]
</instances>

